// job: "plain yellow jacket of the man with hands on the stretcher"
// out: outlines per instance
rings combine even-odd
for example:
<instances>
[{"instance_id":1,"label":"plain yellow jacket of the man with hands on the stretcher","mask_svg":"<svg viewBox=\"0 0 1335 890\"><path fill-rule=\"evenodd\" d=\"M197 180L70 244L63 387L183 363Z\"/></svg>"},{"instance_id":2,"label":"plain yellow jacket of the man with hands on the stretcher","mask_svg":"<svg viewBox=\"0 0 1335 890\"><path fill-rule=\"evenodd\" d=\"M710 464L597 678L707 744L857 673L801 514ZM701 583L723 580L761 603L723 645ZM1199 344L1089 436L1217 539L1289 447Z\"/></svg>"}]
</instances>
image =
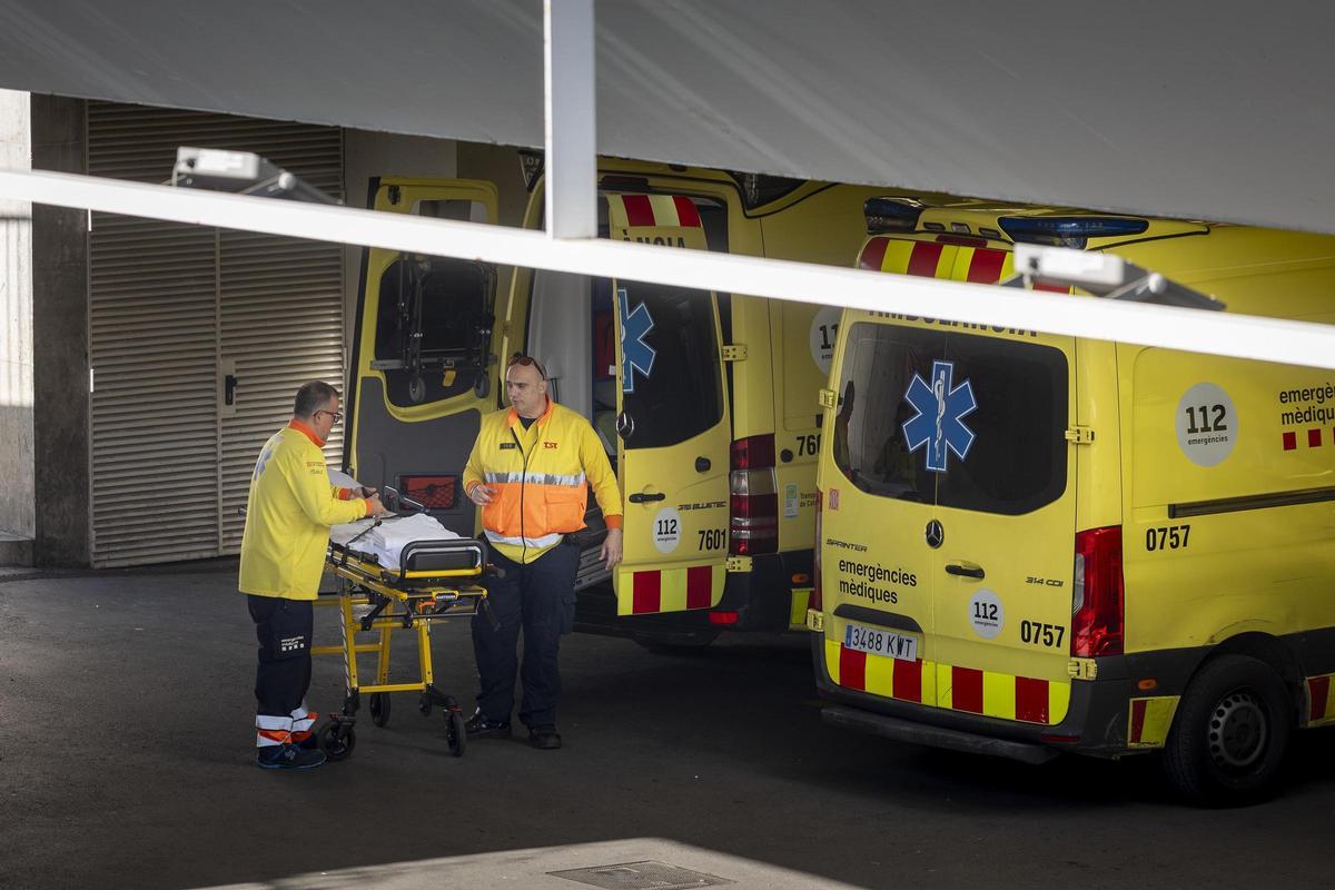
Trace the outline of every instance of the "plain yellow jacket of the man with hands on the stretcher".
<instances>
[{"instance_id":1,"label":"plain yellow jacket of the man with hands on the stretcher","mask_svg":"<svg viewBox=\"0 0 1335 890\"><path fill-rule=\"evenodd\" d=\"M322 444L292 420L260 450L242 535L243 594L315 599L330 526L370 512L364 499L330 483Z\"/></svg>"}]
</instances>

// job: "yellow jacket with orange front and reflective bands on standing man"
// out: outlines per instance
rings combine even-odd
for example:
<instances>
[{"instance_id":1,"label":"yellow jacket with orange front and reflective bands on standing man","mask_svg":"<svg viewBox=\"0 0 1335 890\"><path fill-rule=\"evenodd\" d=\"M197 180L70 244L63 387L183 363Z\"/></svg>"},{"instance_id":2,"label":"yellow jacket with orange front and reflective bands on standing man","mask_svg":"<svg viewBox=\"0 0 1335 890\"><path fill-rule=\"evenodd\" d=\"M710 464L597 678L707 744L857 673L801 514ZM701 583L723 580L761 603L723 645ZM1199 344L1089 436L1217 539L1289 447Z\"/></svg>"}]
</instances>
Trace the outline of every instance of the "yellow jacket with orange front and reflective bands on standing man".
<instances>
[{"instance_id":1,"label":"yellow jacket with orange front and reflective bands on standing man","mask_svg":"<svg viewBox=\"0 0 1335 890\"><path fill-rule=\"evenodd\" d=\"M581 415L547 399L525 430L514 408L482 419L463 470L463 490L495 490L482 508L487 540L507 559L530 563L585 527L593 486L609 528L621 528L621 491L598 435Z\"/></svg>"}]
</instances>

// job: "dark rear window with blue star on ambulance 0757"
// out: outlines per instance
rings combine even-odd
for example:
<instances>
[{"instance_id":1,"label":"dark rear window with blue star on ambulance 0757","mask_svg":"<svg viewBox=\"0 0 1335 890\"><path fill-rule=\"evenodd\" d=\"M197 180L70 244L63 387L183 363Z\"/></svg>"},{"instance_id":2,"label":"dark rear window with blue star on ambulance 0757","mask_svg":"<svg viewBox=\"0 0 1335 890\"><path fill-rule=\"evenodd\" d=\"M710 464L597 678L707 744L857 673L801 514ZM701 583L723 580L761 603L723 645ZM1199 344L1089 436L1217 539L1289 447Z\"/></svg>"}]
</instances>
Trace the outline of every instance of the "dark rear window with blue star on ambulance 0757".
<instances>
[{"instance_id":1,"label":"dark rear window with blue star on ambulance 0757","mask_svg":"<svg viewBox=\"0 0 1335 890\"><path fill-rule=\"evenodd\" d=\"M1065 355L1049 346L860 323L841 370L834 462L874 495L1037 510L1067 486L1067 379Z\"/></svg>"}]
</instances>

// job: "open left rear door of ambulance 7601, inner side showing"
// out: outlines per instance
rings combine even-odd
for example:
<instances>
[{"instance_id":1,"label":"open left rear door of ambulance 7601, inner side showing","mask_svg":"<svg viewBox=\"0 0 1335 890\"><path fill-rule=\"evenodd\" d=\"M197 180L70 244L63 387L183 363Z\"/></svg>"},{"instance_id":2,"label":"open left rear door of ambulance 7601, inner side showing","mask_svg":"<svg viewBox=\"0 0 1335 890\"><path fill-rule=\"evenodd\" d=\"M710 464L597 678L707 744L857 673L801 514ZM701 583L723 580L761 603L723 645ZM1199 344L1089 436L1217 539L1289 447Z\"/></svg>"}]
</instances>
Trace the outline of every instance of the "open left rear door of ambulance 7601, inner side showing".
<instances>
[{"instance_id":1,"label":"open left rear door of ambulance 7601, inner side showing","mask_svg":"<svg viewBox=\"0 0 1335 890\"><path fill-rule=\"evenodd\" d=\"M482 180L382 179L371 207L495 223L497 188ZM482 414L495 410L498 288L490 263L367 248L344 400L344 466L391 486L447 528L475 530L461 475Z\"/></svg>"}]
</instances>

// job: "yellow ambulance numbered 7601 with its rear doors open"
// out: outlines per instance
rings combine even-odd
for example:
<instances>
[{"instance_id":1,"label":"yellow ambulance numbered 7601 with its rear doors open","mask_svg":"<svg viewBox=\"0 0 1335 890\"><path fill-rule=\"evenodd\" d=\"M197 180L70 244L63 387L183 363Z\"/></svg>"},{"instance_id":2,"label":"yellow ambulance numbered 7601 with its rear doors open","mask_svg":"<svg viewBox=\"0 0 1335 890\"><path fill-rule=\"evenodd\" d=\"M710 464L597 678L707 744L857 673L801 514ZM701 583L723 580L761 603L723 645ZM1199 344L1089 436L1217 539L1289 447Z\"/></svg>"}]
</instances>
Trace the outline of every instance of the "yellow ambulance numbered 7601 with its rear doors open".
<instances>
[{"instance_id":1,"label":"yellow ambulance numbered 7601 with its rear doors open","mask_svg":"<svg viewBox=\"0 0 1335 890\"><path fill-rule=\"evenodd\" d=\"M526 228L542 228L541 159L525 155ZM605 159L605 238L844 266L873 191ZM495 184L379 179L378 211L489 221ZM586 628L655 647L721 630L805 624L812 586L816 394L838 311L740 294L505 270L368 250L351 356L344 463L471 534L459 474L503 404L515 352L590 419L618 472L625 562L607 583L597 538L579 574ZM589 515L599 526L597 510Z\"/></svg>"}]
</instances>

